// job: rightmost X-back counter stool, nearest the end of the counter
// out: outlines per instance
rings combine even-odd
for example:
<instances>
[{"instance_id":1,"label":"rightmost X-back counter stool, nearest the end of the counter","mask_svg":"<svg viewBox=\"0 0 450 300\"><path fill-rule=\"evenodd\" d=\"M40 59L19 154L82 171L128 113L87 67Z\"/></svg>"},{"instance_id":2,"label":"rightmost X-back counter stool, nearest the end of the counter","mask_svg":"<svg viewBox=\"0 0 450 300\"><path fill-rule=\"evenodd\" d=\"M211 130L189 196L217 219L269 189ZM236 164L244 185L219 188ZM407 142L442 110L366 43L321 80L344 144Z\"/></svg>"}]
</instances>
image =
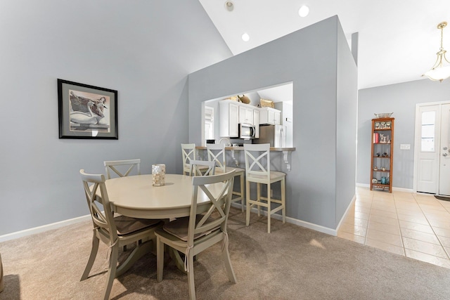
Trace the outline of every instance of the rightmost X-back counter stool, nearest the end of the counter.
<instances>
[{"instance_id":1,"label":"rightmost X-back counter stool, nearest the end of the counter","mask_svg":"<svg viewBox=\"0 0 450 300\"><path fill-rule=\"evenodd\" d=\"M250 209L257 207L258 216L261 215L261 207L267 209L267 233L270 233L270 219L271 214L281 210L283 216L283 223L286 222L286 174L280 171L271 171L270 169L270 144L244 144L245 152L245 190L247 213L245 218L245 225L250 224ZM281 185L281 199L274 199L271 195L271 184L280 182ZM257 184L257 197L250 199L250 183ZM267 187L266 197L261 195L261 185ZM272 204L276 205L272 209Z\"/></svg>"}]
</instances>

